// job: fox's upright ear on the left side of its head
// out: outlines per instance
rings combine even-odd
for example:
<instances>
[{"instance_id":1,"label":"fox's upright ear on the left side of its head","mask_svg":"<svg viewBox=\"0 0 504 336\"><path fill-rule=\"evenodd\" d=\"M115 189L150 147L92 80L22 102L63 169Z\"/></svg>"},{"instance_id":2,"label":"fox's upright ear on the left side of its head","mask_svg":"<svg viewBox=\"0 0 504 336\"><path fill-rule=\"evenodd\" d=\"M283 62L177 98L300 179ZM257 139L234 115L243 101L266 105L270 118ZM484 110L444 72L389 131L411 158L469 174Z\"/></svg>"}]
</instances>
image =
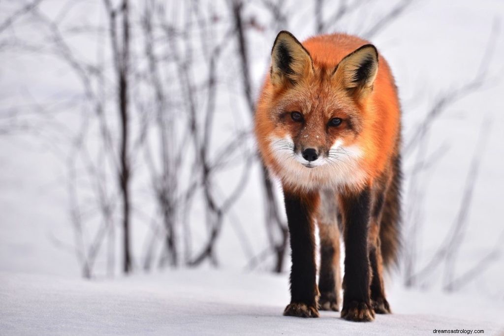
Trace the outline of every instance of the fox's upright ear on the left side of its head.
<instances>
[{"instance_id":1,"label":"fox's upright ear on the left side of its head","mask_svg":"<svg viewBox=\"0 0 504 336\"><path fill-rule=\"evenodd\" d=\"M275 85L294 84L313 73L308 51L291 33L278 33L271 50L271 81Z\"/></svg>"}]
</instances>

